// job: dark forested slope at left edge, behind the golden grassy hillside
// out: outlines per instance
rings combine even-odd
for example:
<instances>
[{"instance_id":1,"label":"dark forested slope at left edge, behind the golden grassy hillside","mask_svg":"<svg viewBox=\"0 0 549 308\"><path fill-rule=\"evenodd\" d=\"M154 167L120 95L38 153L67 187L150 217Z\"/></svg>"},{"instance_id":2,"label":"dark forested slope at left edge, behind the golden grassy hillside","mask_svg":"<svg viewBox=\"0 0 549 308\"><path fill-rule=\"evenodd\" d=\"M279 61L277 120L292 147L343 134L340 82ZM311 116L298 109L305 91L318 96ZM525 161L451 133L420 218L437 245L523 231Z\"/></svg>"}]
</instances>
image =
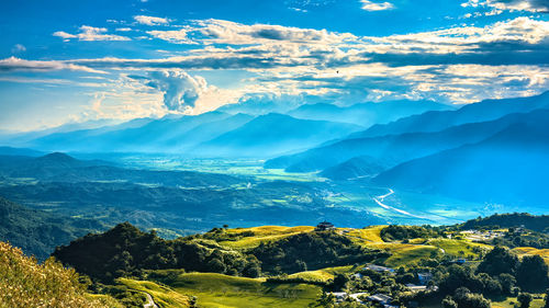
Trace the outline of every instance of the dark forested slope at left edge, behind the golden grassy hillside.
<instances>
[{"instance_id":1,"label":"dark forested slope at left edge, behind the golden grassy hillside","mask_svg":"<svg viewBox=\"0 0 549 308\"><path fill-rule=\"evenodd\" d=\"M45 260L55 247L105 227L81 219L31 209L0 196L0 241L20 247L29 255Z\"/></svg>"}]
</instances>

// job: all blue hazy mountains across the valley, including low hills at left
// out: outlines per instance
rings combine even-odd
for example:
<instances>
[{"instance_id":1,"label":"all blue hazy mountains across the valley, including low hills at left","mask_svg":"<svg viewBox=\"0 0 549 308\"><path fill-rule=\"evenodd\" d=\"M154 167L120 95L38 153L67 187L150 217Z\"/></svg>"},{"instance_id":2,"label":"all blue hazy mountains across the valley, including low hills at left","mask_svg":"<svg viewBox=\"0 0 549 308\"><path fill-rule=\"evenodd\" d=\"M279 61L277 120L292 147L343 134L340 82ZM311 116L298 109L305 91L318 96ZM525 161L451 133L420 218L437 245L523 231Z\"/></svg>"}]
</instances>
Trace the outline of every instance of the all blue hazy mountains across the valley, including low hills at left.
<instances>
[{"instance_id":1,"label":"all blue hazy mountains across the valley, including low hills at left","mask_svg":"<svg viewBox=\"0 0 549 308\"><path fill-rule=\"evenodd\" d=\"M25 146L40 151L266 159L265 169L318 172L338 182L367 181L474 202L545 202L538 182L545 179L541 171L549 156L545 126L549 123L549 92L485 100L459 109L430 101L292 104L277 109L271 103L245 102L200 115L141 118L23 139ZM12 156L0 163L0 176L8 178L161 185L189 183L186 179L194 183L198 179L191 173L136 171L93 160L71 166L76 162L58 153L55 163L64 168L57 172L55 163L40 167L45 158L16 156L36 157L40 151L2 151ZM208 176L201 174L198 182L226 185L233 181L221 174Z\"/></svg>"}]
</instances>

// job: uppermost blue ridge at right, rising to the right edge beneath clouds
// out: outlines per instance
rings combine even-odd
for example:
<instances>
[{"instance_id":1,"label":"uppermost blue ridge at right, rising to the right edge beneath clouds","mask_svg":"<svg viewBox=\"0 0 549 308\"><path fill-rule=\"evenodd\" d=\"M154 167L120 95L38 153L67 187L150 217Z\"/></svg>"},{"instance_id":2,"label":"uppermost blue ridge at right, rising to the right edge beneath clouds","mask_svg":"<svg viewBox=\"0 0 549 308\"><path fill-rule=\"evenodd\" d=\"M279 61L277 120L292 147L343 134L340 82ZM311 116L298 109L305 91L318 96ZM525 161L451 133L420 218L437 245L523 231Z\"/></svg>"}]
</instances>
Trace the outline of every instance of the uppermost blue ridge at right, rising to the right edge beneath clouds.
<instances>
[{"instance_id":1,"label":"uppermost blue ridge at right, rising to the right edge beneath clouds","mask_svg":"<svg viewBox=\"0 0 549 308\"><path fill-rule=\"evenodd\" d=\"M528 98L485 100L468 104L457 111L430 111L401 118L389 124L380 124L352 137L376 137L418 132L438 132L466 123L496 119L511 113L526 113L549 107L549 91Z\"/></svg>"}]
</instances>

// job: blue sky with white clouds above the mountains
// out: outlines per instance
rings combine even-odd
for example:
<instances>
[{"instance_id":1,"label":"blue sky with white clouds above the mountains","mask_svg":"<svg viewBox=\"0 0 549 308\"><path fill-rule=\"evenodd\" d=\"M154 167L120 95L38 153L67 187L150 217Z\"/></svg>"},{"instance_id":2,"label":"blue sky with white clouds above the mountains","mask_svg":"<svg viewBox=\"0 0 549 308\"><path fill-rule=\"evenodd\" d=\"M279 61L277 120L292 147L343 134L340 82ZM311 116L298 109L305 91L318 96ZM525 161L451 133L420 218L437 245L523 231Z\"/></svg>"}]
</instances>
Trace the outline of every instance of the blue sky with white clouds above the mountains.
<instances>
[{"instance_id":1,"label":"blue sky with white clouds above the mountains","mask_svg":"<svg viewBox=\"0 0 549 308\"><path fill-rule=\"evenodd\" d=\"M549 90L549 0L22 0L0 132L224 104L466 104Z\"/></svg>"}]
</instances>

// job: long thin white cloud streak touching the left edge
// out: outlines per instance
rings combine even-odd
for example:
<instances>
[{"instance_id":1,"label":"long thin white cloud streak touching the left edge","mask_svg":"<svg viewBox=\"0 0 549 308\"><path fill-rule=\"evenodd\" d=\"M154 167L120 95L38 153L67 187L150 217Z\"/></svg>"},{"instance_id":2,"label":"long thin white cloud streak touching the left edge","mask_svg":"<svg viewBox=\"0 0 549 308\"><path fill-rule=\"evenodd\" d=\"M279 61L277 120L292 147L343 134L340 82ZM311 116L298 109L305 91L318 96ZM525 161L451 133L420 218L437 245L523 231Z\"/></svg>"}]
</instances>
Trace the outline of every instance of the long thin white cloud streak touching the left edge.
<instances>
[{"instance_id":1,"label":"long thin white cloud streak touching the left edge","mask_svg":"<svg viewBox=\"0 0 549 308\"><path fill-rule=\"evenodd\" d=\"M35 61L24 60L15 57L9 57L0 60L0 72L9 71L53 71L53 70L75 70L94 73L104 73L104 71L96 70L86 66L67 64L64 61Z\"/></svg>"}]
</instances>

